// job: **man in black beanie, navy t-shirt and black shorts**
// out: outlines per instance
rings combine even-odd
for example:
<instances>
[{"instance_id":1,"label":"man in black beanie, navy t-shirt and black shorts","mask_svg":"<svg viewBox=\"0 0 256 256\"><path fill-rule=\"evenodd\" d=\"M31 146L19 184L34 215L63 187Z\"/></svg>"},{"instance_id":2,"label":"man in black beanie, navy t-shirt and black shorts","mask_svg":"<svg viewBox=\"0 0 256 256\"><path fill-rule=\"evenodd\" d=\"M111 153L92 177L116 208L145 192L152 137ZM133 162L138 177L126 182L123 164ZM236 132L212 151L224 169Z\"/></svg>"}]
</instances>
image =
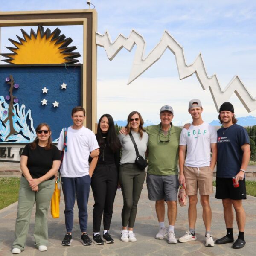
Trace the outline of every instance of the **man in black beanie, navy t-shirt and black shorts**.
<instances>
[{"instance_id":1,"label":"man in black beanie, navy t-shirt and black shorts","mask_svg":"<svg viewBox=\"0 0 256 256\"><path fill-rule=\"evenodd\" d=\"M245 245L245 211L242 199L246 199L245 172L250 160L250 139L247 131L236 124L234 107L230 102L224 102L221 105L218 119L222 127L218 130L215 197L222 199L227 234L217 239L215 243L226 244L234 241L233 206L236 212L239 235L232 247L240 249ZM234 187L233 177L236 178L235 183L239 183L239 187Z\"/></svg>"}]
</instances>

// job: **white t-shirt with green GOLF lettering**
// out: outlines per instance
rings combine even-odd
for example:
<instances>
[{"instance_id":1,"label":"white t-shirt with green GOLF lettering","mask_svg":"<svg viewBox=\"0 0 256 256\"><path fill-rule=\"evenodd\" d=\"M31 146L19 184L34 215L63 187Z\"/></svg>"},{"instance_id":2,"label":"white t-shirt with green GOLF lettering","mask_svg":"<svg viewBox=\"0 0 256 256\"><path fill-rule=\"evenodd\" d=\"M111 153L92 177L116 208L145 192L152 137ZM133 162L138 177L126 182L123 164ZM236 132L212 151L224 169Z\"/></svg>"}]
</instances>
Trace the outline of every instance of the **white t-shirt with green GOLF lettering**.
<instances>
[{"instance_id":1,"label":"white t-shirt with green GOLF lettering","mask_svg":"<svg viewBox=\"0 0 256 256\"><path fill-rule=\"evenodd\" d=\"M204 167L211 162L211 144L217 143L217 131L206 122L182 129L180 145L187 146L185 166Z\"/></svg>"}]
</instances>

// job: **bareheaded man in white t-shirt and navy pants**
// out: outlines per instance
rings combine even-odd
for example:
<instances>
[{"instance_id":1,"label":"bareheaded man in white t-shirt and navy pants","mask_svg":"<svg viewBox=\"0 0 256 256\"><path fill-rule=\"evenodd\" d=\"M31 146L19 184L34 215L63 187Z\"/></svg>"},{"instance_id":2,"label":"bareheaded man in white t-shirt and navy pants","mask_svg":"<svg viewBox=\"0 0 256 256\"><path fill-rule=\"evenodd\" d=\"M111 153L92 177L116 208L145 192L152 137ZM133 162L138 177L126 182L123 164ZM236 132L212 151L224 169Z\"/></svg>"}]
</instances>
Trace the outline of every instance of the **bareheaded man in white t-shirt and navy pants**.
<instances>
[{"instance_id":1,"label":"bareheaded man in white t-shirt and navy pants","mask_svg":"<svg viewBox=\"0 0 256 256\"><path fill-rule=\"evenodd\" d=\"M67 233L62 241L63 246L72 242L73 209L75 201L79 209L79 225L81 230L81 242L83 245L91 245L92 241L87 235L87 202L90 192L90 183L93 171L96 167L98 157L94 157L90 166L88 163L89 154L98 150L99 145L95 134L83 126L85 110L82 107L75 107L72 110L71 118L73 125L67 128L67 148L64 151L61 166L61 184L65 200L65 224ZM62 129L58 149L64 147L64 130ZM98 150L99 151L99 150ZM99 153L99 152L98 152Z\"/></svg>"}]
</instances>

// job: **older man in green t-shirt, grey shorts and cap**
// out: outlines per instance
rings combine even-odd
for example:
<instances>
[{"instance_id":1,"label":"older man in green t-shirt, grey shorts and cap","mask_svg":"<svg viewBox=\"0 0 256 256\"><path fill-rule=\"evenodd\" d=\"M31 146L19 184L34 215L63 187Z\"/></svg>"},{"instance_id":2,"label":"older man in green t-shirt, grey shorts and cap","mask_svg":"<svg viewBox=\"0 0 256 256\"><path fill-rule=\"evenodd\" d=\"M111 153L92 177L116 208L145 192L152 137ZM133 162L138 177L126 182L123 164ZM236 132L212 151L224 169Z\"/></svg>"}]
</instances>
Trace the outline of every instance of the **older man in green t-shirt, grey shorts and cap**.
<instances>
[{"instance_id":1,"label":"older man in green t-shirt, grey shorts and cap","mask_svg":"<svg viewBox=\"0 0 256 256\"><path fill-rule=\"evenodd\" d=\"M169 244L176 244L174 225L177 217L178 149L181 129L172 125L173 108L165 105L160 109L160 124L145 127L148 133L148 199L154 200L159 232L156 239L168 235ZM127 134L125 128L120 131ZM169 228L164 225L165 201Z\"/></svg>"}]
</instances>

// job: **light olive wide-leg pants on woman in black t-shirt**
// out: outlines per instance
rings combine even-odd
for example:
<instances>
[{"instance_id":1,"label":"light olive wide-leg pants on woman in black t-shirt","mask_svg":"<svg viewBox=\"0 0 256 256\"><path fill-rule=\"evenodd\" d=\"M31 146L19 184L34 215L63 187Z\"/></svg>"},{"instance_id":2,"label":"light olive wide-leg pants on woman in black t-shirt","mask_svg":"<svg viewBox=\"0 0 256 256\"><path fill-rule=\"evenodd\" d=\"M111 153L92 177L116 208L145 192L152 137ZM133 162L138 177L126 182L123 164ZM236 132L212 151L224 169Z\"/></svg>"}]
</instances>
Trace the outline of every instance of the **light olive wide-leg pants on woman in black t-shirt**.
<instances>
[{"instance_id":1,"label":"light olive wide-leg pants on woman in black t-shirt","mask_svg":"<svg viewBox=\"0 0 256 256\"><path fill-rule=\"evenodd\" d=\"M17 219L15 225L16 239L12 245L13 248L19 248L21 251L23 251L25 248L31 213L34 204L36 206L34 228L35 247L38 248L40 245L47 245L47 212L51 202L54 187L54 179L46 180L38 185L38 192L34 192L30 188L26 178L21 176Z\"/></svg>"}]
</instances>

